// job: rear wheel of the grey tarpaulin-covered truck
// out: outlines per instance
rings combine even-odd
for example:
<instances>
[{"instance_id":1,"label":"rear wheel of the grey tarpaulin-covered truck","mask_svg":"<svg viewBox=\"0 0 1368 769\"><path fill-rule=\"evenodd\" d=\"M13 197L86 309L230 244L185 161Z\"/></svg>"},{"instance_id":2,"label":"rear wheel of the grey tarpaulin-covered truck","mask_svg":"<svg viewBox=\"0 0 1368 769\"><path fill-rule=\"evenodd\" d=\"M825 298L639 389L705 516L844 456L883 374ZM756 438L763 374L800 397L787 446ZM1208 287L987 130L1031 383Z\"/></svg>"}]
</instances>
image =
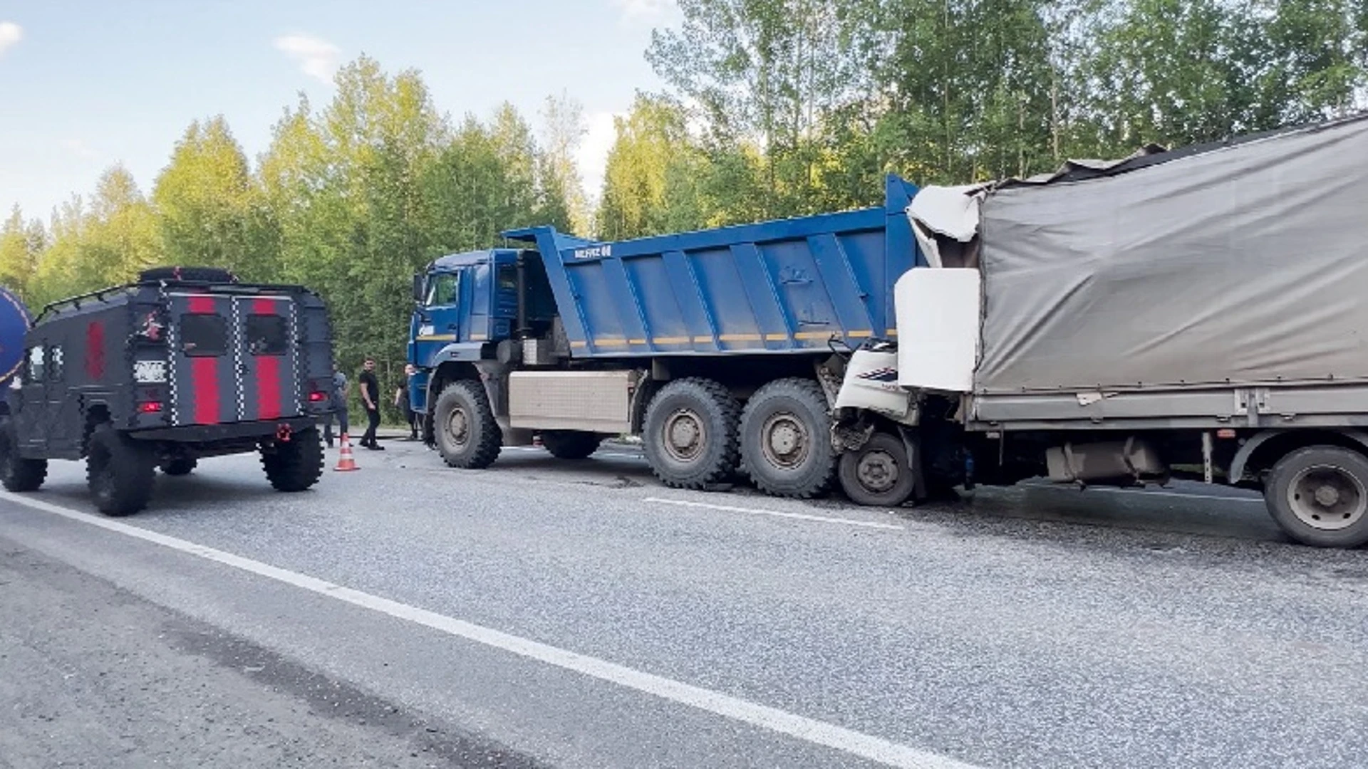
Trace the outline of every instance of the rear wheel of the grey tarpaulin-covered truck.
<instances>
[{"instance_id":1,"label":"rear wheel of the grey tarpaulin-covered truck","mask_svg":"<svg viewBox=\"0 0 1368 769\"><path fill-rule=\"evenodd\" d=\"M1339 446L1298 449L1268 473L1264 504L1278 525L1302 545L1368 543L1368 458Z\"/></svg>"}]
</instances>

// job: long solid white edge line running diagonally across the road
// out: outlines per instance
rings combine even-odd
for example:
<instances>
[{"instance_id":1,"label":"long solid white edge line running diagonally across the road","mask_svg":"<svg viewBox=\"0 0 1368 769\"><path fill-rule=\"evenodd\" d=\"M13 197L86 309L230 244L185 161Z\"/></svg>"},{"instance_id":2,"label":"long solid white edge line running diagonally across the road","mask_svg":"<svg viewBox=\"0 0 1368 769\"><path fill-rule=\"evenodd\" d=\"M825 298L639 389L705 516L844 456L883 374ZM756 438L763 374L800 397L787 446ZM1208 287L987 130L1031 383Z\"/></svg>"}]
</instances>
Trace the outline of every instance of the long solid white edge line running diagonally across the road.
<instances>
[{"instance_id":1,"label":"long solid white edge line running diagonally across the road","mask_svg":"<svg viewBox=\"0 0 1368 769\"><path fill-rule=\"evenodd\" d=\"M96 525L107 531L161 545L163 547L187 553L207 561L215 561L244 572L250 572L257 576L298 587L301 590L308 590L309 592L335 598L343 603L379 612L382 614L406 620L447 635L464 638L466 640L509 651L529 660L536 660L538 662L554 665L557 668L572 670L602 681L614 683L621 687L668 699L670 702L706 710L715 716L741 721L752 727L788 735L813 744L830 747L851 755L886 764L889 766L900 766L904 769L978 769L971 764L964 764L953 758L886 740L884 738L856 732L854 729L847 729L845 727L828 724L826 721L817 721L814 718L807 718L796 713L740 699L720 691L676 681L673 679L666 679L663 676L609 662L607 660L599 660L587 654L529 640L497 631L494 628L468 623L465 620L457 620L454 617L438 614L436 612L430 612L427 609L420 609L417 606L399 603L398 601L391 601L389 598L382 598L379 595L343 587L341 584L334 584L319 577L291 572L289 569L272 566L271 564L264 564L252 558L197 545L186 539L129 525L118 520L82 513L79 510L73 510L60 505L44 502L41 499L30 499L8 491L0 491L0 499L7 499L36 510L42 510L45 513L52 513L74 521Z\"/></svg>"}]
</instances>

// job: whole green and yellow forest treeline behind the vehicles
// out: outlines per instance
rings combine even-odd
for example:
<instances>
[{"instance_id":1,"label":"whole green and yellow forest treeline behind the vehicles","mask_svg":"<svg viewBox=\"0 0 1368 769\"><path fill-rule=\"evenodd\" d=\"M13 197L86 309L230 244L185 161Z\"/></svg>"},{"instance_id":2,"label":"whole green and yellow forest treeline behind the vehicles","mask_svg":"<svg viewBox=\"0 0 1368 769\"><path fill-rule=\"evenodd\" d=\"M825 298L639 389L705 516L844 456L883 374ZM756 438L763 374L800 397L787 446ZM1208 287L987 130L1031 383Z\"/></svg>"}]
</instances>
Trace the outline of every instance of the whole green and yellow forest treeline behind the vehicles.
<instances>
[{"instance_id":1,"label":"whole green and yellow forest treeline behind the vehicles","mask_svg":"<svg viewBox=\"0 0 1368 769\"><path fill-rule=\"evenodd\" d=\"M47 218L14 208L0 282L30 305L157 264L300 282L345 367L402 361L409 276L550 223L603 239L877 204L882 175L964 183L1357 109L1364 0L679 0L666 88L616 119L601 190L581 107L454 119L417 71L343 66L248 157L222 116L140 187L111 167ZM591 203L592 201L592 203Z\"/></svg>"}]
</instances>

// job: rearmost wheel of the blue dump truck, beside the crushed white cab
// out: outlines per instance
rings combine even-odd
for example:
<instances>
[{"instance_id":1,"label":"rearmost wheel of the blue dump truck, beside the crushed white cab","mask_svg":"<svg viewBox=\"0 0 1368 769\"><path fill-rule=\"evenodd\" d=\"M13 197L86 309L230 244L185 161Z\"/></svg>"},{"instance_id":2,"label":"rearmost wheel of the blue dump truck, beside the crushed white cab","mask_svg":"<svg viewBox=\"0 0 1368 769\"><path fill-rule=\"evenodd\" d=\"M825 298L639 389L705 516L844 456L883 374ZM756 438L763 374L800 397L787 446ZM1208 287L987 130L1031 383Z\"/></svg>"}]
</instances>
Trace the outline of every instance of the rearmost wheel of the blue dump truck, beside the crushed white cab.
<instances>
[{"instance_id":1,"label":"rearmost wheel of the blue dump truck, beside the crushed white cab","mask_svg":"<svg viewBox=\"0 0 1368 769\"><path fill-rule=\"evenodd\" d=\"M836 483L832 417L822 386L811 379L776 379L741 412L741 461L757 488L810 499Z\"/></svg>"}]
</instances>

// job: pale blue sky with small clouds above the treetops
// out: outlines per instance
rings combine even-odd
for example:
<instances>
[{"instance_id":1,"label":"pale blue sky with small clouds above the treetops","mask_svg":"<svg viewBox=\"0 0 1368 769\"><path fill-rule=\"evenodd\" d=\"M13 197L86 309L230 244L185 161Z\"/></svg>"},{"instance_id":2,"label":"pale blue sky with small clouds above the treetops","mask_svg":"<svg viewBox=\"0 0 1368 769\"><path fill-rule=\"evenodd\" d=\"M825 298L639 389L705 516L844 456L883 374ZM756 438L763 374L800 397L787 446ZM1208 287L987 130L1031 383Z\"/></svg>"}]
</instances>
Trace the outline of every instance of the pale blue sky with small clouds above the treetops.
<instances>
[{"instance_id":1,"label":"pale blue sky with small clouds above the treetops","mask_svg":"<svg viewBox=\"0 0 1368 769\"><path fill-rule=\"evenodd\" d=\"M0 207L48 218L123 161L144 192L196 118L223 114L250 157L338 63L416 67L442 111L503 100L535 120L549 94L584 104L590 194L611 116L659 88L643 52L672 0L0 0Z\"/></svg>"}]
</instances>

